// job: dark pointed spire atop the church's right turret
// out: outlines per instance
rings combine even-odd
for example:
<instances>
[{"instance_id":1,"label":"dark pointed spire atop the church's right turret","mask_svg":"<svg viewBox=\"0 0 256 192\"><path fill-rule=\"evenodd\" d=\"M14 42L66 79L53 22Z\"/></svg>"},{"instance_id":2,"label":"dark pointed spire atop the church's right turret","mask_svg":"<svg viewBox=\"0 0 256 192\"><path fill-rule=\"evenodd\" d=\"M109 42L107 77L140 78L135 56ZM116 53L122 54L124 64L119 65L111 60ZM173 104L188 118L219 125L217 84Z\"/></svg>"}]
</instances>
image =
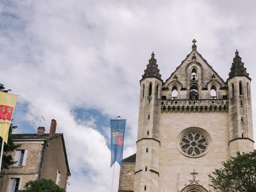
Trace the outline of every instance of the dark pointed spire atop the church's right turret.
<instances>
[{"instance_id":1,"label":"dark pointed spire atop the church's right turret","mask_svg":"<svg viewBox=\"0 0 256 192\"><path fill-rule=\"evenodd\" d=\"M229 79L234 76L246 76L248 78L249 74L246 72L246 68L244 68L244 63L242 62L242 58L239 56L238 51L236 50L236 56L233 59L232 66L230 68Z\"/></svg>"}]
</instances>

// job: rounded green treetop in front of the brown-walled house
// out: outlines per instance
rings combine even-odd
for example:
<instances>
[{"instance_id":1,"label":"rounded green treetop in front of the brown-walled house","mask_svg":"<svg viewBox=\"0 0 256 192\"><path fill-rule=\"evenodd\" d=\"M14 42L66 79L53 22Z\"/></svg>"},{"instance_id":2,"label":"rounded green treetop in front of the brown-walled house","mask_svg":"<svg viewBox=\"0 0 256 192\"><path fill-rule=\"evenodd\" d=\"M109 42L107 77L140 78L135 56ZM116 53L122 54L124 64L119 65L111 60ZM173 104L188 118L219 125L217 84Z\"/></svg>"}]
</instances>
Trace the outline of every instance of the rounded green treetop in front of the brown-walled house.
<instances>
[{"instance_id":1,"label":"rounded green treetop in front of the brown-walled house","mask_svg":"<svg viewBox=\"0 0 256 192\"><path fill-rule=\"evenodd\" d=\"M66 192L64 188L60 188L51 179L39 179L26 182L24 190L18 192Z\"/></svg>"}]
</instances>

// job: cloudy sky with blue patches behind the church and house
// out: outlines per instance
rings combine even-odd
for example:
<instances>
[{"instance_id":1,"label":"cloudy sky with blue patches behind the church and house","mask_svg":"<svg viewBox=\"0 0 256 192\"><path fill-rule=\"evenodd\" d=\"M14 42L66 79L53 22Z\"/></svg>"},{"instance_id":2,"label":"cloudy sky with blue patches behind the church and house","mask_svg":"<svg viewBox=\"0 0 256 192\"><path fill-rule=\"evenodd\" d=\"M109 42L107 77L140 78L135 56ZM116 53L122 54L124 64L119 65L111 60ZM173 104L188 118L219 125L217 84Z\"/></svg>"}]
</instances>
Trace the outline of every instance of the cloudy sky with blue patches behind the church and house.
<instances>
[{"instance_id":1,"label":"cloudy sky with blue patches behind the church and house","mask_svg":"<svg viewBox=\"0 0 256 192\"><path fill-rule=\"evenodd\" d=\"M226 80L238 49L255 98L255 7L255 0L1 0L0 82L19 95L15 132L36 133L40 116L49 132L56 119L68 192L110 191L109 119L127 119L124 157L134 154L139 80L152 51L165 81L195 38Z\"/></svg>"}]
</instances>

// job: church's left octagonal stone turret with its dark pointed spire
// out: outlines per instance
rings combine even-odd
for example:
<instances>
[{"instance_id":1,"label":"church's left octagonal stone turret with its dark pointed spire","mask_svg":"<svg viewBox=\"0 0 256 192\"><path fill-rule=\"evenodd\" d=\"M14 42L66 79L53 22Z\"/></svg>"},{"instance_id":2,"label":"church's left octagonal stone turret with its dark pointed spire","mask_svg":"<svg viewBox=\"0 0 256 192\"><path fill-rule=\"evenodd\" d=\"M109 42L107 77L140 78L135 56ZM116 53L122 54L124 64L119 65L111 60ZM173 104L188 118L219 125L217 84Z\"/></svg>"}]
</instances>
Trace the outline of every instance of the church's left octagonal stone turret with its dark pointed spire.
<instances>
[{"instance_id":1,"label":"church's left octagonal stone turret with its dark pointed spire","mask_svg":"<svg viewBox=\"0 0 256 192\"><path fill-rule=\"evenodd\" d=\"M157 191L162 79L154 52L140 80L134 191Z\"/></svg>"}]
</instances>

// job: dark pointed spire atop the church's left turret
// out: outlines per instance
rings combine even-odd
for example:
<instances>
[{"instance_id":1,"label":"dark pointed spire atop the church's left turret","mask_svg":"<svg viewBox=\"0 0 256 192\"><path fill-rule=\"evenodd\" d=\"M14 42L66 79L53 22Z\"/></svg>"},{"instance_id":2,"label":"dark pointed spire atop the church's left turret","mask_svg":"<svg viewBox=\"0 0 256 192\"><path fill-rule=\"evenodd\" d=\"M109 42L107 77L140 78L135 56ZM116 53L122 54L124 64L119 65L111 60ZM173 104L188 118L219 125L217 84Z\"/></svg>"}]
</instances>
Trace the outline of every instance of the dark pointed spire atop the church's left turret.
<instances>
[{"instance_id":1,"label":"dark pointed spire atop the church's left turret","mask_svg":"<svg viewBox=\"0 0 256 192\"><path fill-rule=\"evenodd\" d=\"M161 75L159 73L160 70L158 69L158 64L156 64L154 52L152 52L151 58L148 61L149 62L148 62L147 68L146 68L146 70L144 70L144 75L142 75L141 80L143 80L144 78L147 78L147 77L155 77L155 78L162 80Z\"/></svg>"}]
</instances>

